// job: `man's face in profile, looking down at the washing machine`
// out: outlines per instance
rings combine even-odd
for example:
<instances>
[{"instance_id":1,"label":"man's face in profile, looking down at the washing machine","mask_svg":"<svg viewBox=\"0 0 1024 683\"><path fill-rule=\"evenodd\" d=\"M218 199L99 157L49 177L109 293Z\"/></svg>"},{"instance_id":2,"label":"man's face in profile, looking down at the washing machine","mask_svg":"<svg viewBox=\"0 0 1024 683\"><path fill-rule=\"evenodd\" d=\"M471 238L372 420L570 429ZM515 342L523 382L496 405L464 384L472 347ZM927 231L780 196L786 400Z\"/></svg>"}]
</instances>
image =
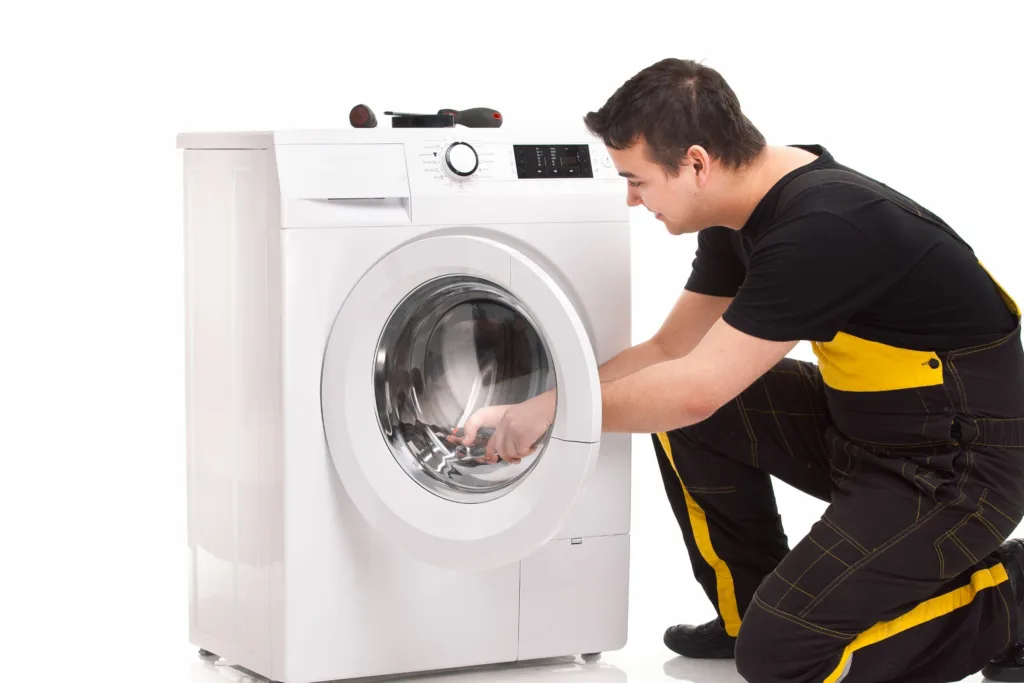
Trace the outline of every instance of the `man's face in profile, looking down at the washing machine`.
<instances>
[{"instance_id":1,"label":"man's face in profile, looking down at the washing machine","mask_svg":"<svg viewBox=\"0 0 1024 683\"><path fill-rule=\"evenodd\" d=\"M700 187L692 164L684 160L676 176L651 161L647 143L640 139L626 150L608 150L618 174L627 179L626 203L645 206L672 234L696 232L707 225L700 219Z\"/></svg>"}]
</instances>

